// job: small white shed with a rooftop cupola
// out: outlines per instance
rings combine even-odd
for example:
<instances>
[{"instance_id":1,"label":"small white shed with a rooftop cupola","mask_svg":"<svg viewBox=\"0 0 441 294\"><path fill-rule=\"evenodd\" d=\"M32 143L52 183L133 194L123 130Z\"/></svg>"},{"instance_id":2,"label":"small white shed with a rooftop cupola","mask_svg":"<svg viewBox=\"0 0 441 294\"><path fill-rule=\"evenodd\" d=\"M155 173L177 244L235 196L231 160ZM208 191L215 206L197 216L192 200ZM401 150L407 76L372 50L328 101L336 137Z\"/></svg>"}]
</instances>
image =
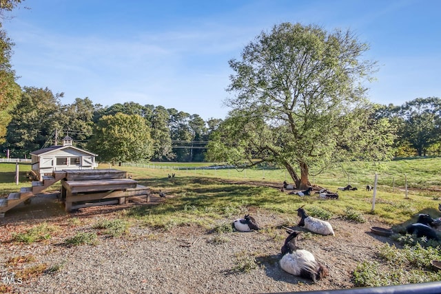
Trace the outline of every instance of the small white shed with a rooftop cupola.
<instances>
[{"instance_id":1,"label":"small white shed with a rooftop cupola","mask_svg":"<svg viewBox=\"0 0 441 294\"><path fill-rule=\"evenodd\" d=\"M43 180L45 174L52 174L52 171L95 169L98 166L95 162L96 154L74 147L70 136L65 136L63 145L32 151L30 155L32 171L39 180Z\"/></svg>"}]
</instances>

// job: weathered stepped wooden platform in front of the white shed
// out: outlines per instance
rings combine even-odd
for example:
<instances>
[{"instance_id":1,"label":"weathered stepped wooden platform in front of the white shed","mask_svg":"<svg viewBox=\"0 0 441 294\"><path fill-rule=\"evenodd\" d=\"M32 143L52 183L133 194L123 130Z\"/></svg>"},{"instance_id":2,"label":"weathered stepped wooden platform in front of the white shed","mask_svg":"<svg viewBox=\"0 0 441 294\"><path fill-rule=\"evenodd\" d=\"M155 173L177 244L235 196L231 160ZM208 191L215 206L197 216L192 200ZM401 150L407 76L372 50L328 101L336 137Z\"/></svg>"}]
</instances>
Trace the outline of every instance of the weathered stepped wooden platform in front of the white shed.
<instances>
[{"instance_id":1,"label":"weathered stepped wooden platform in front of the white shed","mask_svg":"<svg viewBox=\"0 0 441 294\"><path fill-rule=\"evenodd\" d=\"M64 171L61 180L61 198L65 211L105 204L123 204L131 196L145 196L149 188L127 178L126 171L117 169L90 169Z\"/></svg>"}]
</instances>

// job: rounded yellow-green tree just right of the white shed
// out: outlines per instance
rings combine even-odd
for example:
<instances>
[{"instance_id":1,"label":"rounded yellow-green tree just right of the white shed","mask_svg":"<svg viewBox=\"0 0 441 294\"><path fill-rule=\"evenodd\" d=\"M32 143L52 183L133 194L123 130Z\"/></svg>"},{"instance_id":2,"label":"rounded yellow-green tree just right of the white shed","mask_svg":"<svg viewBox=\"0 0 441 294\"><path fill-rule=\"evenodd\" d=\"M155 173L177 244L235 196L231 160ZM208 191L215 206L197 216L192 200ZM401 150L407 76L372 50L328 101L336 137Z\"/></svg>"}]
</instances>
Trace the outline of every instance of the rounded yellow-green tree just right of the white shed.
<instances>
[{"instance_id":1,"label":"rounded yellow-green tree just right of the white shed","mask_svg":"<svg viewBox=\"0 0 441 294\"><path fill-rule=\"evenodd\" d=\"M150 160L153 154L150 127L138 114L103 116L94 127L88 148L101 161Z\"/></svg>"}]
</instances>

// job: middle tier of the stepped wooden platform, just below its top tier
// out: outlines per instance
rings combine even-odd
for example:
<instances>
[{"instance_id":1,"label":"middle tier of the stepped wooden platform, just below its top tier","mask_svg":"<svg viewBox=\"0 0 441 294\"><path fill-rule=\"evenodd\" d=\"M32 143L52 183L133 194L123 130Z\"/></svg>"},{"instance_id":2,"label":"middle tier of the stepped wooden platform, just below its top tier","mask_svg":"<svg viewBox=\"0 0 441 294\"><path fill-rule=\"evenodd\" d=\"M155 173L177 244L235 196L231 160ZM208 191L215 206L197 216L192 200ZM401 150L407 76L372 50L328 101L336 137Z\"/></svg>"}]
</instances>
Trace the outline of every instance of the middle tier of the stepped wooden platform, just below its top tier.
<instances>
[{"instance_id":1,"label":"middle tier of the stepped wooden platform, just below its top tier","mask_svg":"<svg viewBox=\"0 0 441 294\"><path fill-rule=\"evenodd\" d=\"M72 180L61 181L61 185L69 193L83 193L96 191L124 190L136 188L136 180L121 178L108 180Z\"/></svg>"}]
</instances>

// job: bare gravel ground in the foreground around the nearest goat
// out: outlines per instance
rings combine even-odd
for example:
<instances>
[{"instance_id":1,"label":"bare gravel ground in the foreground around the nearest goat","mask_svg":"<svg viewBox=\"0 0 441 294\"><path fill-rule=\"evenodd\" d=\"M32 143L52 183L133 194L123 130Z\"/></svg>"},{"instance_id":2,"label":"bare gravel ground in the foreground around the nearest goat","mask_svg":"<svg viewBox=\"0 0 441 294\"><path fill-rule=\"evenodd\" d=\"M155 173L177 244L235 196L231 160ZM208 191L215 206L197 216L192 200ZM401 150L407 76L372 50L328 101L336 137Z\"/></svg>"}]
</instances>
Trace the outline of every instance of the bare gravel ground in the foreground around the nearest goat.
<instances>
[{"instance_id":1,"label":"bare gravel ground in the foreground around the nearest goat","mask_svg":"<svg viewBox=\"0 0 441 294\"><path fill-rule=\"evenodd\" d=\"M115 218L124 207L93 207L66 214L54 200L7 213L0 238L0 277L12 276L38 264L57 269L28 277L21 284L4 284L11 293L280 293L352 288L352 272L364 260L375 258L377 247L388 238L373 235L362 224L330 220L336 236L304 234L298 244L329 268L329 277L312 284L280 269L280 247L287 236L281 216L254 211L262 231L212 233L197 226L155 231L131 227L122 238L99 235L99 244L66 246L63 240L78 231L95 231L99 218ZM39 205L41 206L39 208ZM129 204L126 204L129 205ZM41 216L42 211L46 216ZM75 216L81 224L72 225ZM240 217L240 216L237 216ZM234 218L232 218L234 219ZM63 230L49 241L33 244L10 242L12 231L24 231L46 221ZM297 217L291 218L298 221ZM227 220L224 220L227 221ZM293 224L294 225L294 224ZM6 228L6 230L4 230ZM34 261L8 265L10 258L32 254ZM244 271L242 264L251 269ZM252 261L252 262L250 262ZM255 262L253 262L255 261ZM254 268L253 268L254 267ZM0 280L0 287L2 286Z\"/></svg>"}]
</instances>

